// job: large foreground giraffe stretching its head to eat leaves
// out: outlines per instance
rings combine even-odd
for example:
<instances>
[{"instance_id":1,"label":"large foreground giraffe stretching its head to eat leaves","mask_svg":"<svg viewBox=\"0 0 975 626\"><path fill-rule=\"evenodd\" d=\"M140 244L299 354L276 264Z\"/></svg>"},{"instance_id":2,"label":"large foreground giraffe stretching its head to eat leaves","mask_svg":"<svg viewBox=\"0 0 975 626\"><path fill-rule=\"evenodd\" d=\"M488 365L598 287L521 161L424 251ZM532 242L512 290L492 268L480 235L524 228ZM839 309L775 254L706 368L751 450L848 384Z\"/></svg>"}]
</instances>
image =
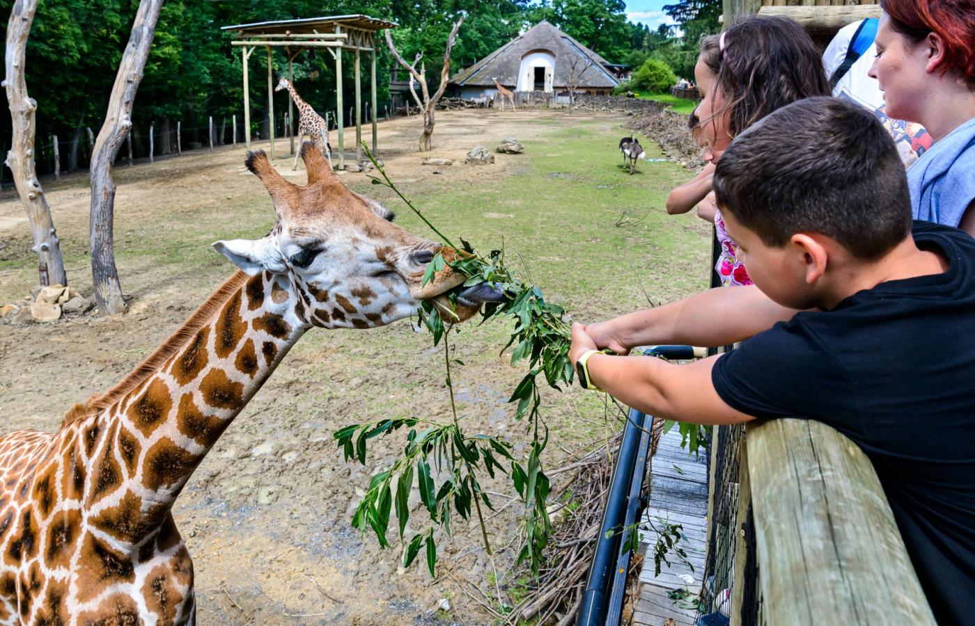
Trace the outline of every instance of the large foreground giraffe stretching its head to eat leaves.
<instances>
[{"instance_id":1,"label":"large foreground giraffe stretching its head to eat leaves","mask_svg":"<svg viewBox=\"0 0 975 626\"><path fill-rule=\"evenodd\" d=\"M0 624L195 624L171 509L224 429L313 326L381 326L421 299L450 306L465 277L445 268L423 287L422 275L437 252L458 253L349 191L312 142L301 156L304 187L249 153L278 222L262 239L215 242L239 271L172 337L57 433L0 438ZM458 319L482 291L461 293Z\"/></svg>"}]
</instances>

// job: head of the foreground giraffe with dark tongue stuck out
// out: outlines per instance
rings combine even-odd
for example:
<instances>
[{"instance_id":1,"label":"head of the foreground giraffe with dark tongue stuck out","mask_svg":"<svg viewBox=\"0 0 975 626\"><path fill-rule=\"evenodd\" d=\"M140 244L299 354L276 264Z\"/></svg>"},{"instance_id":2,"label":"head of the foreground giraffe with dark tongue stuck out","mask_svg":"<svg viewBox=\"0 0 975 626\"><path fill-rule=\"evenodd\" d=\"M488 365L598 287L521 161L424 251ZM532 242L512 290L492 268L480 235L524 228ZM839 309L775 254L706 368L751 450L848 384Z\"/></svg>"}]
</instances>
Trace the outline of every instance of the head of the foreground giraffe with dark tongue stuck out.
<instances>
[{"instance_id":1,"label":"head of the foreground giraffe with dark tongue stuck out","mask_svg":"<svg viewBox=\"0 0 975 626\"><path fill-rule=\"evenodd\" d=\"M382 203L350 191L314 143L302 144L301 158L308 171L304 187L285 180L263 151L248 154L248 169L271 195L278 223L262 239L217 241L214 247L244 272L270 275L272 294L295 296L306 323L382 326L408 317L419 300L433 300L446 319L462 321L492 298L489 290L468 289L447 313L446 292L466 276L446 267L424 286L423 275L438 252L448 262L457 252L412 235L393 223L393 212Z\"/></svg>"}]
</instances>

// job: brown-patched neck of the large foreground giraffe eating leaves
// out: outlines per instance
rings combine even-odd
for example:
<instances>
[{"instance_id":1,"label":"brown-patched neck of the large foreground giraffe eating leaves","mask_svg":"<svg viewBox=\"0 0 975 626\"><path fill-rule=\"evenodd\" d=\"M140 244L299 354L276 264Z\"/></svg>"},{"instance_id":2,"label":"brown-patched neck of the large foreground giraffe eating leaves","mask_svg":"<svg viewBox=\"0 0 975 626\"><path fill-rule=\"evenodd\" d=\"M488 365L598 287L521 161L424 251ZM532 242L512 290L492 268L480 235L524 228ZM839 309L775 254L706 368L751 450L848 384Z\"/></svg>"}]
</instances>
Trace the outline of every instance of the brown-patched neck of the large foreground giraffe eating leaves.
<instances>
[{"instance_id":1,"label":"brown-patched neck of the large foreground giraffe eating leaves","mask_svg":"<svg viewBox=\"0 0 975 626\"><path fill-rule=\"evenodd\" d=\"M92 524L136 545L159 528L217 438L307 331L285 278L262 273L121 400L72 424Z\"/></svg>"}]
</instances>

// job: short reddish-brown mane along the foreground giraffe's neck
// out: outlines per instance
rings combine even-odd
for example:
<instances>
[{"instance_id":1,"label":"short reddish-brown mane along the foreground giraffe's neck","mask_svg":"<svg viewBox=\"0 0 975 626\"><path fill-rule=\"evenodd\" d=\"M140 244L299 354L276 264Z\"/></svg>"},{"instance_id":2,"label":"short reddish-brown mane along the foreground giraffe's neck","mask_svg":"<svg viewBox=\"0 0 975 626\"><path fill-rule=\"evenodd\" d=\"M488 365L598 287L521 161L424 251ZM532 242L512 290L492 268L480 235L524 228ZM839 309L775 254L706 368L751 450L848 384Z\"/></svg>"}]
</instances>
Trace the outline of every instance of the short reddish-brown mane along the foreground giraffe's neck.
<instances>
[{"instance_id":1,"label":"short reddish-brown mane along the foreground giraffe's neck","mask_svg":"<svg viewBox=\"0 0 975 626\"><path fill-rule=\"evenodd\" d=\"M136 369L122 379L118 385L108 389L104 393L95 393L85 402L79 402L71 407L67 413L64 414L64 420L61 422L61 427L63 428L69 423L82 420L89 416L97 415L102 410L107 409L122 399L126 393L138 387L143 381L145 381L145 379L149 378L149 376L159 370L159 368L166 363L171 356L176 354L176 350L179 350L186 344L186 342L192 339L196 335L197 331L203 328L205 324L210 322L210 320L214 318L214 315L223 308L223 305L226 304L227 300L230 299L230 296L241 288L248 277L249 276L247 274L238 271L233 276L227 278L223 284L217 287L216 291L209 298L207 298L202 305L200 305L200 308L190 315L189 319L183 322L183 325L180 326L176 332L169 337L169 339L164 341L159 348L146 356L145 359L137 365Z\"/></svg>"}]
</instances>

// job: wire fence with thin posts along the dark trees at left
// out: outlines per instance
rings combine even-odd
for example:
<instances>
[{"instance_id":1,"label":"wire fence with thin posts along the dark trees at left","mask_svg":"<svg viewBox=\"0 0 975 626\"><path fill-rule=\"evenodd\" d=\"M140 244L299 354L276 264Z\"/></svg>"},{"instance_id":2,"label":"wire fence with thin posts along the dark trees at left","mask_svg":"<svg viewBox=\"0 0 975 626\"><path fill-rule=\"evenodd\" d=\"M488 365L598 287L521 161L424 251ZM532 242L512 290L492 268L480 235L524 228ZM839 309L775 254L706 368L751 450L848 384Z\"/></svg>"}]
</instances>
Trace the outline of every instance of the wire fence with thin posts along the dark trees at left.
<instances>
[{"instance_id":1,"label":"wire fence with thin posts along the dark trees at left","mask_svg":"<svg viewBox=\"0 0 975 626\"><path fill-rule=\"evenodd\" d=\"M388 120L396 115L391 104L392 102L388 100L376 103L377 121ZM373 111L370 102L363 103L360 113L362 124L372 122ZM337 128L335 121L339 118L342 126L348 129L355 126L355 107L348 107L344 111L331 109L324 112L322 117L327 120L330 130ZM274 118L276 139L289 139L292 131L297 134L299 117L294 115L292 120L287 107L285 111L275 112ZM194 120L188 124L172 120L134 124L119 148L115 165L125 166L145 159L179 156L187 151L237 145L247 141L247 131L243 114L208 116L204 120ZM87 169L91 166L98 129L79 128L71 134L72 136L67 139L55 134L38 134L34 143L34 160L38 175L59 175L62 172ZM250 134L252 140L266 139L270 136L270 123L266 114L257 121L252 119ZM0 138L0 153L6 154L10 145L9 136ZM11 181L10 172L5 166L0 166L0 184Z\"/></svg>"}]
</instances>

